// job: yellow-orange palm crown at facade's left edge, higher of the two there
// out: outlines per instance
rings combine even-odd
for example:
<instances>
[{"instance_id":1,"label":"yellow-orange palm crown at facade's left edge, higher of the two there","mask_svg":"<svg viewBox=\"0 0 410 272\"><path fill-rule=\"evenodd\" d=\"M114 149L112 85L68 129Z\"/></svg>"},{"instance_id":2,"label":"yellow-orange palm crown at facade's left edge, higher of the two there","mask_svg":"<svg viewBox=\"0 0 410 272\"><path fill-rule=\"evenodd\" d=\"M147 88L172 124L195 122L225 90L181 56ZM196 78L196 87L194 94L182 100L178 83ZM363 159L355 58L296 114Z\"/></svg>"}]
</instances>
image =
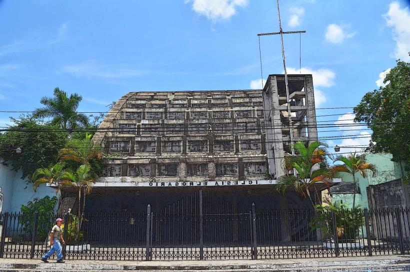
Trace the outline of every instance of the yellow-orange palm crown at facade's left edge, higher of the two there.
<instances>
[{"instance_id":1,"label":"yellow-orange palm crown at facade's left edge, higher of the two there","mask_svg":"<svg viewBox=\"0 0 410 272\"><path fill-rule=\"evenodd\" d=\"M92 142L91 136L91 134L86 134L82 140L69 140L68 147L60 149L57 158L60 162L72 163L75 167L83 164L89 165L90 174L95 179L101 172L103 152L101 146Z\"/></svg>"}]
</instances>

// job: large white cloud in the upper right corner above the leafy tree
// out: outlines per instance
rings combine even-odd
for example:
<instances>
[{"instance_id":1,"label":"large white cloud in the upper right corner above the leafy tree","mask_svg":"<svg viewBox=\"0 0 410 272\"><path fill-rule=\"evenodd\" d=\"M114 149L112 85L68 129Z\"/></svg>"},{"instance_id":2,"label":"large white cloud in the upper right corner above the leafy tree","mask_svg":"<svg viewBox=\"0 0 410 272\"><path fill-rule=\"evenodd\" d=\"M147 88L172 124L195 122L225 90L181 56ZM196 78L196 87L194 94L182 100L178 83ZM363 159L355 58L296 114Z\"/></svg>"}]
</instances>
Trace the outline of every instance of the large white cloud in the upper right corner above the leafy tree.
<instances>
[{"instance_id":1,"label":"large white cloud in the upper right corner above the leafy tree","mask_svg":"<svg viewBox=\"0 0 410 272\"><path fill-rule=\"evenodd\" d=\"M393 57L402 61L410 61L410 11L408 7L400 9L398 2L390 3L384 19L387 26L393 30L393 39L396 42Z\"/></svg>"}]
</instances>

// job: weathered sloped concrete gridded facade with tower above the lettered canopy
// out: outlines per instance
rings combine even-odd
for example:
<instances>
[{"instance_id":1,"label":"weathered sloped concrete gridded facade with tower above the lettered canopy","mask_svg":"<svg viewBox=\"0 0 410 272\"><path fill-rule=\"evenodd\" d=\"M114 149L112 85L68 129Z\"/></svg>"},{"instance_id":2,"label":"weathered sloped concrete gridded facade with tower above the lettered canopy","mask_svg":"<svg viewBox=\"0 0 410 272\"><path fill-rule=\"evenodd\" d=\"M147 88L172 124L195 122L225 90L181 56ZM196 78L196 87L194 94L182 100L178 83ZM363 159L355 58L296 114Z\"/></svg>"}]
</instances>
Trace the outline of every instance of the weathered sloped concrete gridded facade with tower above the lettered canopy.
<instances>
[{"instance_id":1,"label":"weathered sloped concrete gridded facade with tower above the lettered canopy","mask_svg":"<svg viewBox=\"0 0 410 272\"><path fill-rule=\"evenodd\" d=\"M288 78L294 139L315 140L311 75ZM128 93L99 129L104 186L274 180L290 153L283 75L263 90Z\"/></svg>"}]
</instances>

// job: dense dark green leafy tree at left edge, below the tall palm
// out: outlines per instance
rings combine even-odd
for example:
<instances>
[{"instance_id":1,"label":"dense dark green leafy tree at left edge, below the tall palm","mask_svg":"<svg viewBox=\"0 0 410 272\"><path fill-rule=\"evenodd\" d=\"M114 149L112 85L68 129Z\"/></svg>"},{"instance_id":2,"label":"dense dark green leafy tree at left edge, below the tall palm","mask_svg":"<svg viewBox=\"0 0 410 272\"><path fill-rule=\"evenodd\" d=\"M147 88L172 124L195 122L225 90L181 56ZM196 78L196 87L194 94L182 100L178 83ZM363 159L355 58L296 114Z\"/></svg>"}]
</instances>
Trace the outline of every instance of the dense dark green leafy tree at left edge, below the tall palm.
<instances>
[{"instance_id":1,"label":"dense dark green leafy tree at left edge, below the tall palm","mask_svg":"<svg viewBox=\"0 0 410 272\"><path fill-rule=\"evenodd\" d=\"M0 134L0 157L3 165L21 169L21 178L31 177L35 169L48 167L55 162L58 150L67 142L67 133L55 130L56 126L44 124L32 116L11 118L15 125ZM21 148L21 154L15 149Z\"/></svg>"}]
</instances>

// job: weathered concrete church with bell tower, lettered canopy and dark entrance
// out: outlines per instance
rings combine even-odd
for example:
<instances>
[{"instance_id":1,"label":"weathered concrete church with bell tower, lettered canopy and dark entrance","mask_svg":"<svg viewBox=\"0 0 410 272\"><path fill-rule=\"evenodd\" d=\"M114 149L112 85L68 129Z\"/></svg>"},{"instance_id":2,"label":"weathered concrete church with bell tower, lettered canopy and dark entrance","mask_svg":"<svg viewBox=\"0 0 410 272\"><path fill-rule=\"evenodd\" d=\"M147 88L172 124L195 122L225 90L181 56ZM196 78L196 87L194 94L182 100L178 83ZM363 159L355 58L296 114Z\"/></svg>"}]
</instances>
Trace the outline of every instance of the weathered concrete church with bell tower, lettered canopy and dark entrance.
<instances>
[{"instance_id":1,"label":"weathered concrete church with bell tower, lettered canopy and dark entrance","mask_svg":"<svg viewBox=\"0 0 410 272\"><path fill-rule=\"evenodd\" d=\"M288 75L288 86L293 139L315 140L312 76ZM110 158L86 212L161 208L199 189L235 211L252 202L264 209L309 206L274 189L291 152L284 75L269 75L263 90L128 93L93 141Z\"/></svg>"}]
</instances>

